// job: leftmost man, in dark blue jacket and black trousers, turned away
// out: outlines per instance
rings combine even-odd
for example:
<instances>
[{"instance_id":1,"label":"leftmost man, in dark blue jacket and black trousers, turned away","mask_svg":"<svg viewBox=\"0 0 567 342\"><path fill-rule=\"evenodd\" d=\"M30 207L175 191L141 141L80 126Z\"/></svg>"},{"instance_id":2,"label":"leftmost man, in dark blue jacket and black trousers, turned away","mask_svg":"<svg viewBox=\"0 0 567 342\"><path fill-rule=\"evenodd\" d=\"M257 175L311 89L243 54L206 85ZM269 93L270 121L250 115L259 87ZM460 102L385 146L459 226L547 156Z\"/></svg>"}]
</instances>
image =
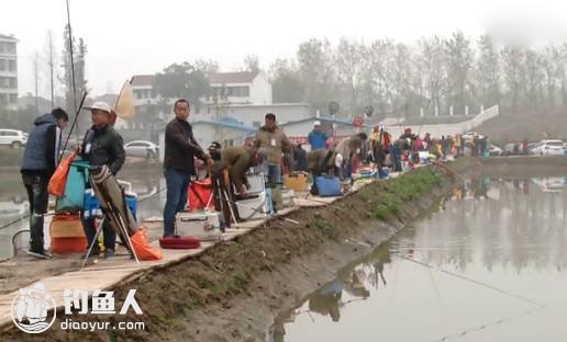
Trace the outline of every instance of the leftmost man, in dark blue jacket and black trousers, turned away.
<instances>
[{"instance_id":1,"label":"leftmost man, in dark blue jacket and black trousers, turned away","mask_svg":"<svg viewBox=\"0 0 567 342\"><path fill-rule=\"evenodd\" d=\"M47 212L47 184L59 159L62 129L69 116L62 109L34 121L22 159L22 180L30 201L30 250L27 254L48 259L44 250L43 215Z\"/></svg>"}]
</instances>

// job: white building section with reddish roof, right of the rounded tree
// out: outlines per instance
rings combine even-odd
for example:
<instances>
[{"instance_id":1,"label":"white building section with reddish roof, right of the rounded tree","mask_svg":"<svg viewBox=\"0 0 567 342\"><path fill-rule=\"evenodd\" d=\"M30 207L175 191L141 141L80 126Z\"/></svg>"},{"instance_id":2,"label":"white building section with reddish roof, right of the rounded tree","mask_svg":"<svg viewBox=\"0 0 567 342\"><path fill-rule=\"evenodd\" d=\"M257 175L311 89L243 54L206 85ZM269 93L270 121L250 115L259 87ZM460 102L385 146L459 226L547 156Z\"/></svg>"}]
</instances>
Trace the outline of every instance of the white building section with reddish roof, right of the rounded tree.
<instances>
[{"instance_id":1,"label":"white building section with reddish roof, right of the rounded tree","mask_svg":"<svg viewBox=\"0 0 567 342\"><path fill-rule=\"evenodd\" d=\"M212 72L212 96L208 103L271 104L271 84L264 72Z\"/></svg>"}]
</instances>

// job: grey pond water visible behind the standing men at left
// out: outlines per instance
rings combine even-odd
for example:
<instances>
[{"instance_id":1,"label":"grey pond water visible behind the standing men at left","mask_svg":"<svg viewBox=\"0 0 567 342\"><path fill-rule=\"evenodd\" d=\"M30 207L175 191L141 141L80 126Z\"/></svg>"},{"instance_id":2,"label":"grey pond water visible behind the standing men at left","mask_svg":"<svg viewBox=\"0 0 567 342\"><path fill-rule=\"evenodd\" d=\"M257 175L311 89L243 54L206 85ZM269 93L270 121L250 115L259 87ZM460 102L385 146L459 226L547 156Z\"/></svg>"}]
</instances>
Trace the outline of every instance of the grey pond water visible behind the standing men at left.
<instances>
[{"instance_id":1,"label":"grey pond water visible behind the standing men at left","mask_svg":"<svg viewBox=\"0 0 567 342\"><path fill-rule=\"evenodd\" d=\"M159 167L133 169L126 167L120 179L132 183L132 191L138 196L140 219L160 216L165 203L165 183ZM0 173L0 260L12 256L12 236L20 230L29 229L30 205L27 195L18 171ZM46 228L47 229L47 228ZM48 236L48 232L45 233ZM21 235L18 244L25 247L29 235Z\"/></svg>"}]
</instances>

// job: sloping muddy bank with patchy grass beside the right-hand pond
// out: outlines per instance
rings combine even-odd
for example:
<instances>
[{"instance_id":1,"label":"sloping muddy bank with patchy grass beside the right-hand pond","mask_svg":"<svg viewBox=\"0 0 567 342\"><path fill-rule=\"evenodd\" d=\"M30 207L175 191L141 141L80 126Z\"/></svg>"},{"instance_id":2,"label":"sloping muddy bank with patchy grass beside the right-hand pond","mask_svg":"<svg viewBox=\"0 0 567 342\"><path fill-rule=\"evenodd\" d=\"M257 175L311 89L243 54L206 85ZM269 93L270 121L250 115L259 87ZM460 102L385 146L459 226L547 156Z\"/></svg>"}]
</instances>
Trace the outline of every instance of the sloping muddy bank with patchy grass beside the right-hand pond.
<instances>
[{"instance_id":1,"label":"sloping muddy bank with patchy grass beside the right-hand pond","mask_svg":"<svg viewBox=\"0 0 567 342\"><path fill-rule=\"evenodd\" d=\"M463 170L474 163L463 159L453 167ZM137 274L113 290L115 298L125 298L130 288L137 288L143 317L65 316L74 321L144 321L144 331L63 331L57 321L48 334L24 335L9 327L5 337L41 341L264 340L277 312L390 238L438 200L448 184L448 178L424 168L369 184L327 207L290 214L299 225L275 218L200 258ZM120 300L116 307L121 307Z\"/></svg>"}]
</instances>

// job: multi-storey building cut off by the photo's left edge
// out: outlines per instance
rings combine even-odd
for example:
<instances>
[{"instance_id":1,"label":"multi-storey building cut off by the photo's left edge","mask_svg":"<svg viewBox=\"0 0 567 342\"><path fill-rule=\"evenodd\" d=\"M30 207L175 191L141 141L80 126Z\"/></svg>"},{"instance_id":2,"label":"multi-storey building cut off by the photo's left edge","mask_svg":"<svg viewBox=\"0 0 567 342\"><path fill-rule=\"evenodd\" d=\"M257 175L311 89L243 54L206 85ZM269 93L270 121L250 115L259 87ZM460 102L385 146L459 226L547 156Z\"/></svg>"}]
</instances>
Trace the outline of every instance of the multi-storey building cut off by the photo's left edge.
<instances>
[{"instance_id":1,"label":"multi-storey building cut off by the photo's left edge","mask_svg":"<svg viewBox=\"0 0 567 342\"><path fill-rule=\"evenodd\" d=\"M18 107L18 39L0 34L0 106Z\"/></svg>"}]
</instances>

